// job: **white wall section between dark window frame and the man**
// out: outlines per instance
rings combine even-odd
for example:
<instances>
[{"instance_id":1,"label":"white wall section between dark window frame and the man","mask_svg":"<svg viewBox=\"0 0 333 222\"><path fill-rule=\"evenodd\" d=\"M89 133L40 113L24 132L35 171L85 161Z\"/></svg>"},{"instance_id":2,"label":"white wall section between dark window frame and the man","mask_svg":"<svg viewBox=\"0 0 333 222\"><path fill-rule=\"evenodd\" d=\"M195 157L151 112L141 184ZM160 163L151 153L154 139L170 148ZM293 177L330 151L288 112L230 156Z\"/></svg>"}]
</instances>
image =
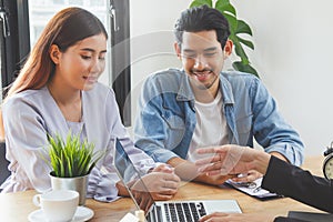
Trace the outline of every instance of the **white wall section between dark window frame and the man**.
<instances>
[{"instance_id":1,"label":"white wall section between dark window frame and the man","mask_svg":"<svg viewBox=\"0 0 333 222\"><path fill-rule=\"evenodd\" d=\"M181 67L173 52L173 26L190 0L131 0L132 120L144 78L158 70ZM134 121L132 121L134 124ZM132 134L132 127L129 129Z\"/></svg>"}]
</instances>

